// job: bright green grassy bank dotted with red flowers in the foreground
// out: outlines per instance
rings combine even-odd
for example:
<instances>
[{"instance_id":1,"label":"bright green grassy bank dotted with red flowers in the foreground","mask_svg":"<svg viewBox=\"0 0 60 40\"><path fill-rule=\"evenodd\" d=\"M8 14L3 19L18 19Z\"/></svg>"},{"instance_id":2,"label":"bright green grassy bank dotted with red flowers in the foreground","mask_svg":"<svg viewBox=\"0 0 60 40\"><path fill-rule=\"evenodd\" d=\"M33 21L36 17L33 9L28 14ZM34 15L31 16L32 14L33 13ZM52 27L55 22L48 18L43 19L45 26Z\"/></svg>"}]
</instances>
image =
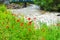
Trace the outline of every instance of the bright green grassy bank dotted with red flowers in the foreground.
<instances>
[{"instance_id":1,"label":"bright green grassy bank dotted with red flowers in the foreground","mask_svg":"<svg viewBox=\"0 0 60 40\"><path fill-rule=\"evenodd\" d=\"M29 19L30 20L30 19ZM6 8L0 7L0 40L60 40L60 27L40 24L34 28L33 21L17 18Z\"/></svg>"}]
</instances>

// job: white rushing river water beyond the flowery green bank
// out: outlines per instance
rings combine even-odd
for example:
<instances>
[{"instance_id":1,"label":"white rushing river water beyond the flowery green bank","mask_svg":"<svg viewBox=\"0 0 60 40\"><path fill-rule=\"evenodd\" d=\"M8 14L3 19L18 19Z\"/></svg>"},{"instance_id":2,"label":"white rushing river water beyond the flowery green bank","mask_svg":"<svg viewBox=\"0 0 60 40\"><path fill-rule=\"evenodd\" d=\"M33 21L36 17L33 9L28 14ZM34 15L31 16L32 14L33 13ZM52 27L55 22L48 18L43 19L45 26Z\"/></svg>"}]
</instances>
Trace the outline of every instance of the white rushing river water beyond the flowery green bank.
<instances>
[{"instance_id":1,"label":"white rushing river water beyond the flowery green bank","mask_svg":"<svg viewBox=\"0 0 60 40\"><path fill-rule=\"evenodd\" d=\"M36 24L38 24L38 21L45 22L47 25L50 24L57 24L57 21L60 20L60 16L58 17L55 12L44 12L39 10L39 6L31 4L31 6L28 6L26 8L22 9L12 9L12 13L15 13L17 15L23 14L27 17L30 17L32 20L34 17L36 17Z\"/></svg>"}]
</instances>

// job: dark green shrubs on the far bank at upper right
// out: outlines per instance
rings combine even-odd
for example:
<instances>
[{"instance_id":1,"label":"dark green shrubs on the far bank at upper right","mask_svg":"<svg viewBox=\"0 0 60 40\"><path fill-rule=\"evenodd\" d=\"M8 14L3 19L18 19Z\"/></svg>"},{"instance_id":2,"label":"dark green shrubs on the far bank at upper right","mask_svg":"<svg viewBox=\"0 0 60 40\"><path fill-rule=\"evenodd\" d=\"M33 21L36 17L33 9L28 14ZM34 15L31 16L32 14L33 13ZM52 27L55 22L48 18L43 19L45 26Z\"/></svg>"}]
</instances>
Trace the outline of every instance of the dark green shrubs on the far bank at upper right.
<instances>
[{"instance_id":1,"label":"dark green shrubs on the far bank at upper right","mask_svg":"<svg viewBox=\"0 0 60 40\"><path fill-rule=\"evenodd\" d=\"M35 0L35 4L47 11L59 11L60 9L60 0Z\"/></svg>"}]
</instances>

